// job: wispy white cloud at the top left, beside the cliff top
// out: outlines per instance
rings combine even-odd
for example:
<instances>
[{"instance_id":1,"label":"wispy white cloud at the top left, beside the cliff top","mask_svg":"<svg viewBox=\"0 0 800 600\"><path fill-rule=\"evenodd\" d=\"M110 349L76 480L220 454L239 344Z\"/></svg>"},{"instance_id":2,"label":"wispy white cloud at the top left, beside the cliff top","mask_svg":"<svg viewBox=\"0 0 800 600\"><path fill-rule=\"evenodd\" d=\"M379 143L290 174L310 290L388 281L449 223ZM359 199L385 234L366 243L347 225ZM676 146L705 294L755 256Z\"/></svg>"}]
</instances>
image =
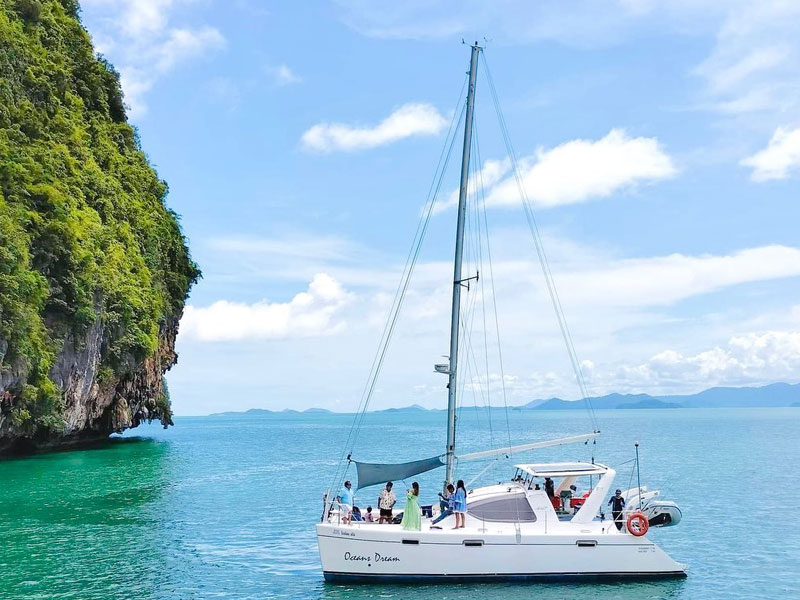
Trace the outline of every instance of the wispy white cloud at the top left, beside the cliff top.
<instances>
[{"instance_id":1,"label":"wispy white cloud at the top left, beside the cliff top","mask_svg":"<svg viewBox=\"0 0 800 600\"><path fill-rule=\"evenodd\" d=\"M83 21L120 72L129 116L146 113L145 96L179 65L225 46L209 26L169 27L173 11L193 0L84 0Z\"/></svg>"}]
</instances>

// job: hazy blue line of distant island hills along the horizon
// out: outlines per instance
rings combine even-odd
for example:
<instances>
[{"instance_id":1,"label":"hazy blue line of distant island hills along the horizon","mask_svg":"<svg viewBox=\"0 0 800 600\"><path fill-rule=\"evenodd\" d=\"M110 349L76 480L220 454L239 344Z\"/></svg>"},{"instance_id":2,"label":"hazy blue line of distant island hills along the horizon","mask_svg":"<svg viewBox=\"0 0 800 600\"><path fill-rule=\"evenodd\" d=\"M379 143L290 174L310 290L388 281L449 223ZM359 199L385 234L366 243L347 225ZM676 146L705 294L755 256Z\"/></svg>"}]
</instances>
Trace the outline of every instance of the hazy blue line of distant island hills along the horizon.
<instances>
[{"instance_id":1,"label":"hazy blue line of distant island hills along the horizon","mask_svg":"<svg viewBox=\"0 0 800 600\"><path fill-rule=\"evenodd\" d=\"M609 409L671 409L671 408L800 408L800 384L772 383L761 387L715 387L688 395L651 396L649 394L607 394L589 398L588 402L595 410ZM586 408L584 400L562 400L549 398L532 400L522 406L509 407L512 410L578 410ZM482 407L481 407L482 408ZM499 407L497 407L499 408ZM474 410L475 407L464 406L462 410ZM397 412L437 412L444 409L428 409L419 404L402 408L385 408L371 411L375 413ZM222 412L209 415L211 417L227 417L241 415L308 415L334 414L325 408L309 408L304 411L292 409L267 410L251 408L244 412ZM338 413L346 414L346 413Z\"/></svg>"}]
</instances>

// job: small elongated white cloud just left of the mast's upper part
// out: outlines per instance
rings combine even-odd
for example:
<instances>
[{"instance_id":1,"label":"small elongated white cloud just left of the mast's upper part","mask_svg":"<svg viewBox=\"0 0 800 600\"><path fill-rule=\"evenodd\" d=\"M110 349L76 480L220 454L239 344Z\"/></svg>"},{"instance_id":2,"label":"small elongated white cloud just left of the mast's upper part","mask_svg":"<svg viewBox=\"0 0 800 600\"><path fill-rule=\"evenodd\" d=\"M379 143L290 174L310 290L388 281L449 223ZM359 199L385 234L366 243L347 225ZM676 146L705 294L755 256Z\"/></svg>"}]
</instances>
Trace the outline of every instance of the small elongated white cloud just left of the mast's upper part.
<instances>
[{"instance_id":1,"label":"small elongated white cloud just left of the mast's upper part","mask_svg":"<svg viewBox=\"0 0 800 600\"><path fill-rule=\"evenodd\" d=\"M447 125L430 104L404 104L373 127L320 123L307 130L302 144L308 150L353 151L391 144L412 136L437 135Z\"/></svg>"}]
</instances>

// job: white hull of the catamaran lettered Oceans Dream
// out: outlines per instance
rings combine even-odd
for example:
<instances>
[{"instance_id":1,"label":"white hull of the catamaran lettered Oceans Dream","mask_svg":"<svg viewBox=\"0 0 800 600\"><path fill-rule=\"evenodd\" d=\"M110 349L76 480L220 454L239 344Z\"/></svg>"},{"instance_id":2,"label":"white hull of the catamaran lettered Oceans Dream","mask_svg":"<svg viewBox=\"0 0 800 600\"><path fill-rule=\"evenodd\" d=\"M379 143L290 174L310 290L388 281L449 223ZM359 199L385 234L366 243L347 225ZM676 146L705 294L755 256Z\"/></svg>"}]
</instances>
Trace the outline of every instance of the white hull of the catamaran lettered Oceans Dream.
<instances>
[{"instance_id":1,"label":"white hull of the catamaran lettered Oceans Dream","mask_svg":"<svg viewBox=\"0 0 800 600\"><path fill-rule=\"evenodd\" d=\"M403 531L397 525L317 525L325 579L338 582L503 581L683 577L685 567L612 523L536 533L513 524ZM558 527L558 526L557 526ZM609 531L610 527L610 531ZM502 531L507 529L506 531ZM573 527L563 527L573 529Z\"/></svg>"}]
</instances>

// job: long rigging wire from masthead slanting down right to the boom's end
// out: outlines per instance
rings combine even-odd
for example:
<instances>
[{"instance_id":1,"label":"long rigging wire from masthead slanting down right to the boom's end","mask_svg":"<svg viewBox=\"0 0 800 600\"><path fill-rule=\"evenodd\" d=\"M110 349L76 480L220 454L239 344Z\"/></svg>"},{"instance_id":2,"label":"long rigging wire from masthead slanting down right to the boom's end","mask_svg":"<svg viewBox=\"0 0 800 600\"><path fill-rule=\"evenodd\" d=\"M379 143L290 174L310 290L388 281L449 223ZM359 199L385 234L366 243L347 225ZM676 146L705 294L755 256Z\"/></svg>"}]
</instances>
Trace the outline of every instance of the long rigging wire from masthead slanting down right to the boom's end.
<instances>
[{"instance_id":1,"label":"long rigging wire from masthead slanting down right to the boom's end","mask_svg":"<svg viewBox=\"0 0 800 600\"><path fill-rule=\"evenodd\" d=\"M595 415L594 408L592 406L591 400L589 399L589 393L586 388L586 382L583 377L580 361L578 360L578 354L575 351L575 346L572 341L572 334L569 330L569 326L567 325L567 321L564 316L564 309L561 305L561 299L559 298L558 291L556 289L555 282L553 280L553 274L552 271L550 270L550 263L544 251L544 246L542 245L541 234L539 233L539 227L536 222L536 217L533 213L533 208L531 206L530 199L528 198L527 192L525 191L525 185L522 181L522 176L520 174L520 168L517 162L516 153L514 151L514 146L511 143L511 137L508 133L508 128L506 126L505 117L503 116L503 111L500 108L500 101L497 96L497 90L495 89L494 86L494 81L492 79L491 71L489 70L489 64L488 61L486 60L486 56L484 53L481 53L481 57L483 58L483 64L486 72L486 79L489 83L489 91L492 96L495 112L497 113L497 120L500 124L500 131L502 133L503 141L505 142L506 145L506 151L508 152L513 167L514 178L516 180L517 188L520 194L520 199L522 200L522 205L525 211L525 218L528 222L528 227L531 231L531 236L533 237L534 246L536 247L536 254L539 257L539 264L542 267L542 273L545 278L547 290L548 293L550 294L550 301L552 302L553 308L555 309L556 319L558 321L559 329L561 330L561 336L564 339L564 344L567 347L567 354L569 355L569 360L570 363L572 364L572 370L575 373L575 380L578 384L578 388L580 389L581 396L589 411L589 417L592 424L592 428L595 432L597 432L599 431L597 416Z\"/></svg>"}]
</instances>

